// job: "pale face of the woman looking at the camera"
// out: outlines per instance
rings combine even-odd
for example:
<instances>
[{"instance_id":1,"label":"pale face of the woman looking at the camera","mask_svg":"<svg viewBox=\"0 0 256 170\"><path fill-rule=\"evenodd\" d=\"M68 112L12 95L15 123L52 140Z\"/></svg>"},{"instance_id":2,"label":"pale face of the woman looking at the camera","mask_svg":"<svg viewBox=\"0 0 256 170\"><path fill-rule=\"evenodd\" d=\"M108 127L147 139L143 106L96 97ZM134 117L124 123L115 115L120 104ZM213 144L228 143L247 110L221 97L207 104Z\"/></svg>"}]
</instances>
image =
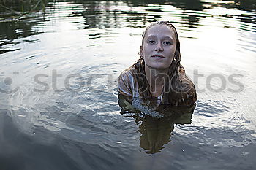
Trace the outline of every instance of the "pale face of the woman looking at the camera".
<instances>
[{"instance_id":1,"label":"pale face of the woman looking at the camera","mask_svg":"<svg viewBox=\"0 0 256 170\"><path fill-rule=\"evenodd\" d=\"M155 25L148 29L141 51L146 66L167 69L173 61L175 50L176 37L172 28Z\"/></svg>"}]
</instances>

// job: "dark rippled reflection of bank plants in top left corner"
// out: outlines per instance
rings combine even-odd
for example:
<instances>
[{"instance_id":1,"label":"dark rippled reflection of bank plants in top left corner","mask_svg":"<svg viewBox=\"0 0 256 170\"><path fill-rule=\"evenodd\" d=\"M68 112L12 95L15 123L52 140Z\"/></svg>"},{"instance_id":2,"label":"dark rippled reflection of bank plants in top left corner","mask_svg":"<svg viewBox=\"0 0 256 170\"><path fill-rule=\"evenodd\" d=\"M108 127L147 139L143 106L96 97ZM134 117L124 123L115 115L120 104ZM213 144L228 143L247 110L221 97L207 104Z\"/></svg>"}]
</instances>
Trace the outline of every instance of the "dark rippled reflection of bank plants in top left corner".
<instances>
[{"instance_id":1,"label":"dark rippled reflection of bank plants in top left corner","mask_svg":"<svg viewBox=\"0 0 256 170\"><path fill-rule=\"evenodd\" d=\"M42 18L44 13L37 14L39 10L44 11L48 0L40 1L0 1L0 54L10 51L20 50L13 46L20 42L13 42L15 39L26 38L29 36L38 35L39 31L34 29L38 25L38 19ZM31 16L37 20L29 20ZM27 22L26 20L29 20ZM24 22L25 21L25 22ZM21 42L33 42L33 40L26 39Z\"/></svg>"}]
</instances>

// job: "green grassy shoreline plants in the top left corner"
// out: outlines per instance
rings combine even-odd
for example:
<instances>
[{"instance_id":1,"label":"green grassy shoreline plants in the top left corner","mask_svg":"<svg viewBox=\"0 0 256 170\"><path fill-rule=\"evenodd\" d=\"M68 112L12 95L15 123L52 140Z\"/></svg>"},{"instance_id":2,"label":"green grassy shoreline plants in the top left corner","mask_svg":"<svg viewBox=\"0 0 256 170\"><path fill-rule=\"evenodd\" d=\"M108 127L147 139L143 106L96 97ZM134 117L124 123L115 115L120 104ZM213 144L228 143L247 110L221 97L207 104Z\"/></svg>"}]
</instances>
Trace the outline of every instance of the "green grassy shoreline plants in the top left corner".
<instances>
[{"instance_id":1,"label":"green grassy shoreline plants in the top left corner","mask_svg":"<svg viewBox=\"0 0 256 170\"><path fill-rule=\"evenodd\" d=\"M0 22L20 20L40 10L45 12L46 4L48 0L0 0ZM4 18L1 15L4 15Z\"/></svg>"}]
</instances>

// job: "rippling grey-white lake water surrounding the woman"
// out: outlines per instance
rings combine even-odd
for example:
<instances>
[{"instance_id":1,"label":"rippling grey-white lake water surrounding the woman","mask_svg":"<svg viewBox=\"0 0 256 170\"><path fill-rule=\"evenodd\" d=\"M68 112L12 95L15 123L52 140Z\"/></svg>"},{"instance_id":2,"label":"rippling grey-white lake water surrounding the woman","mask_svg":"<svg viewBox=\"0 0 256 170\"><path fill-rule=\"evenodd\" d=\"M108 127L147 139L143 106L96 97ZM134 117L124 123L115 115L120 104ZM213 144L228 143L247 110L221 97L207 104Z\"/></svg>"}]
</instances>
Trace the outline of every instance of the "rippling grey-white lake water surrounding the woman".
<instances>
[{"instance_id":1,"label":"rippling grey-white lake water surrounding the woman","mask_svg":"<svg viewBox=\"0 0 256 170\"><path fill-rule=\"evenodd\" d=\"M0 169L255 169L255 9L1 1ZM155 20L178 30L197 106L168 119L121 115L117 77Z\"/></svg>"}]
</instances>

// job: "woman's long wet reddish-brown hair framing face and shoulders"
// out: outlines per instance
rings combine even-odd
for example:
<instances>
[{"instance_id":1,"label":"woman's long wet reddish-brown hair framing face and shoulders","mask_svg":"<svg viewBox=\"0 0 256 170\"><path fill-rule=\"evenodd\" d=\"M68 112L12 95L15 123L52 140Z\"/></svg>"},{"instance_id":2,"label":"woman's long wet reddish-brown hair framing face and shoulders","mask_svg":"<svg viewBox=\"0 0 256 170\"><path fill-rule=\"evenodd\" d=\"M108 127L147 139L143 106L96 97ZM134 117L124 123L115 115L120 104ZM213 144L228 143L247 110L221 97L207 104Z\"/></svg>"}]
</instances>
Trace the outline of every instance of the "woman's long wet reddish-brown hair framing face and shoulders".
<instances>
[{"instance_id":1,"label":"woman's long wet reddish-brown hair framing face and shoulders","mask_svg":"<svg viewBox=\"0 0 256 170\"><path fill-rule=\"evenodd\" d=\"M142 45L140 46L140 59L135 62L134 66L137 72L135 72L134 77L135 81L138 82L138 92L140 93L140 96L142 98L148 99L152 98L150 88L148 81L146 79L146 73L145 73L145 62L143 59L143 44L144 44L144 38L147 34L147 31L149 28L157 25L165 25L171 28L175 34L176 38L176 51L174 53L174 58L172 63L170 63L168 72L167 72L167 78L165 80L164 85L164 92L162 96L162 104L175 104L176 101L184 100L184 94L191 88L191 86L187 86L187 84L192 84L193 88L195 86L193 83L187 78L186 81L182 81L178 72L180 69L184 68L181 66L181 53L180 53L180 42L178 40L178 33L176 31L176 28L169 22L169 21L159 21L156 23L152 23L150 26L146 28L146 30L142 34ZM189 81L189 82L188 82ZM186 94L187 96L187 94Z\"/></svg>"}]
</instances>

